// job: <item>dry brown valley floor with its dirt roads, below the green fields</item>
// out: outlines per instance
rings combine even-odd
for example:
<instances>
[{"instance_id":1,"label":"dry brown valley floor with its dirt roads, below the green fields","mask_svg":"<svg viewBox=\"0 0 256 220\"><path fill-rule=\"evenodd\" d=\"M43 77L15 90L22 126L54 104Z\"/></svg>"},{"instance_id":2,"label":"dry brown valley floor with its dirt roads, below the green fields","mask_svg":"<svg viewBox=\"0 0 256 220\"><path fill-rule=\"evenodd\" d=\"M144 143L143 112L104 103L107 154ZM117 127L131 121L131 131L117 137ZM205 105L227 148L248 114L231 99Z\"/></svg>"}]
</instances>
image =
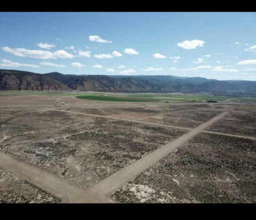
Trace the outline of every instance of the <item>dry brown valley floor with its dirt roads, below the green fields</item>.
<instances>
[{"instance_id":1,"label":"dry brown valley floor with its dirt roads, below the green fields","mask_svg":"<svg viewBox=\"0 0 256 220\"><path fill-rule=\"evenodd\" d=\"M255 202L255 122L237 99L1 95L0 202Z\"/></svg>"}]
</instances>

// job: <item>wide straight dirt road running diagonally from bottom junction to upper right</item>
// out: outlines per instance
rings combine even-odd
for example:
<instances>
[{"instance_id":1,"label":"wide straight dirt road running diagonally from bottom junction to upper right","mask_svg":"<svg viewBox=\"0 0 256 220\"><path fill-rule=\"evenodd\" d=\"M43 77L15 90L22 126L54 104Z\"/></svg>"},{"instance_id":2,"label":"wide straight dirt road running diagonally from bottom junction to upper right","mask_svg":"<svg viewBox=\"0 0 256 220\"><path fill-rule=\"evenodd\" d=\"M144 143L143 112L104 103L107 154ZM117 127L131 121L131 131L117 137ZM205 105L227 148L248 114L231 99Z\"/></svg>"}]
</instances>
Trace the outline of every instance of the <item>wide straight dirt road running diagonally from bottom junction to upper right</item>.
<instances>
[{"instance_id":1,"label":"wide straight dirt road running diagonally from bottom junction to upper right","mask_svg":"<svg viewBox=\"0 0 256 220\"><path fill-rule=\"evenodd\" d=\"M228 112L222 112L209 120L208 122L199 125L199 127L189 131L188 133L180 136L174 141L169 142L166 145L163 145L159 149L153 151L152 153L142 157L140 160L135 161L134 163L129 164L128 166L120 169L118 172L106 177L101 180L99 183L89 186L86 189L86 193L79 195L78 197L70 200L70 202L76 203L98 203L98 202L112 202L109 199L109 195L114 193L114 191L120 189L124 186L129 180L136 177L142 171L152 166L152 164L161 160L163 157L167 156L170 152L177 149L177 147L184 144L186 141L193 138L195 135L199 134L201 130L206 129L212 123L221 119Z\"/></svg>"}]
</instances>

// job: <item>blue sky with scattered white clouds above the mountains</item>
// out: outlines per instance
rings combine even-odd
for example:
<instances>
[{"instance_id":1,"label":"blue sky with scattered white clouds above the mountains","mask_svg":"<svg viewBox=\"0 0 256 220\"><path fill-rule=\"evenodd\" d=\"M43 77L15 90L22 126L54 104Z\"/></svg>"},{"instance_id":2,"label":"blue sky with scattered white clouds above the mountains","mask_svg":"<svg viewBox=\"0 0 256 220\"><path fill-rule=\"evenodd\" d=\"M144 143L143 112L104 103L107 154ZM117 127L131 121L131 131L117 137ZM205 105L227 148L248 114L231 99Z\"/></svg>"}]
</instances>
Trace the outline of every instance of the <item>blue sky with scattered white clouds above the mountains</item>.
<instances>
[{"instance_id":1,"label":"blue sky with scattered white clouds above the mountains","mask_svg":"<svg viewBox=\"0 0 256 220\"><path fill-rule=\"evenodd\" d=\"M256 13L0 13L0 68L256 80Z\"/></svg>"}]
</instances>

